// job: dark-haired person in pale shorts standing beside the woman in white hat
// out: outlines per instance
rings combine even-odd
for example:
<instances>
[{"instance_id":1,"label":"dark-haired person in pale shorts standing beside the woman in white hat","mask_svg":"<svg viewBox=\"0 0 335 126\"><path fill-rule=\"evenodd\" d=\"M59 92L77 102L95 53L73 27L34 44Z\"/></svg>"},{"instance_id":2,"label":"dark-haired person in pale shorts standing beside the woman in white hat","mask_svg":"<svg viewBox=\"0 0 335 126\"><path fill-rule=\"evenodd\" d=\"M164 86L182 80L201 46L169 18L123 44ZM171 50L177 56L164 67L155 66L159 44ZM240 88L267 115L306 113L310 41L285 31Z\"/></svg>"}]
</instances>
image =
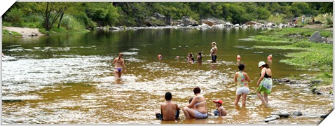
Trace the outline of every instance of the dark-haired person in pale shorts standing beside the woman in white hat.
<instances>
[{"instance_id":1,"label":"dark-haired person in pale shorts standing beside the woman in white hat","mask_svg":"<svg viewBox=\"0 0 335 126\"><path fill-rule=\"evenodd\" d=\"M244 64L238 65L238 69L240 71L236 72L234 77L235 83L238 84L234 104L235 106L238 106L238 102L240 102L240 97L242 96L242 106L245 106L245 99L247 98L247 94L249 94L249 85L247 82L250 83L250 78L248 74L244 72Z\"/></svg>"}]
</instances>

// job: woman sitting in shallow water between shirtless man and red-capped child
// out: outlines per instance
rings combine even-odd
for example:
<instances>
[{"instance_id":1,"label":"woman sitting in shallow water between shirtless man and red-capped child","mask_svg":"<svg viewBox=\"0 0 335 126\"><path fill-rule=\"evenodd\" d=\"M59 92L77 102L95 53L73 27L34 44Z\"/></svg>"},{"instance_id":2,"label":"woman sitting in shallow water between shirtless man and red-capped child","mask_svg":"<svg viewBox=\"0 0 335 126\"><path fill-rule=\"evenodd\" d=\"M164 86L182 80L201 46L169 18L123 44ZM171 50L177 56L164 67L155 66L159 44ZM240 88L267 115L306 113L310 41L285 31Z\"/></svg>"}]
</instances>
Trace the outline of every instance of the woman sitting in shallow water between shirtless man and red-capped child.
<instances>
[{"instance_id":1,"label":"woman sitting in shallow water between shirtless man and red-capped child","mask_svg":"<svg viewBox=\"0 0 335 126\"><path fill-rule=\"evenodd\" d=\"M207 102L200 91L200 87L195 87L193 92L196 97L193 97L192 102L183 108L186 118L207 118Z\"/></svg>"}]
</instances>

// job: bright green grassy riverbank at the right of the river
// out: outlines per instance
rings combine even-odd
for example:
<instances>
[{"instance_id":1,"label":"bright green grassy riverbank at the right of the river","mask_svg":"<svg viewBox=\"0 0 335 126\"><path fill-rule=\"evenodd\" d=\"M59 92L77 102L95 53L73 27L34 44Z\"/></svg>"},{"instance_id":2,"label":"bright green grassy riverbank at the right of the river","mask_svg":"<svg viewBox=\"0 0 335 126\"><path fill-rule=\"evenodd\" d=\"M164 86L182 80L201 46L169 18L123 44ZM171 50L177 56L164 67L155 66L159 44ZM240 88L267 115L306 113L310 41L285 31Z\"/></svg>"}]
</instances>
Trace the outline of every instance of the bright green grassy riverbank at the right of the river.
<instances>
[{"instance_id":1,"label":"bright green grassy riverbank at the right of the river","mask_svg":"<svg viewBox=\"0 0 335 126\"><path fill-rule=\"evenodd\" d=\"M254 46L254 48L271 48L275 50L298 50L284 54L287 59L280 62L296 66L296 70L315 71L313 75L291 75L276 80L294 87L306 87L314 94L333 95L333 48L334 36L332 28L322 28L319 25L306 25L307 28L270 29L263 35L252 36L250 39L264 43L288 43L276 46ZM313 27L313 28L312 28ZM327 41L310 41L315 33ZM299 86L296 86L299 85ZM302 86L303 85L303 86Z\"/></svg>"}]
</instances>

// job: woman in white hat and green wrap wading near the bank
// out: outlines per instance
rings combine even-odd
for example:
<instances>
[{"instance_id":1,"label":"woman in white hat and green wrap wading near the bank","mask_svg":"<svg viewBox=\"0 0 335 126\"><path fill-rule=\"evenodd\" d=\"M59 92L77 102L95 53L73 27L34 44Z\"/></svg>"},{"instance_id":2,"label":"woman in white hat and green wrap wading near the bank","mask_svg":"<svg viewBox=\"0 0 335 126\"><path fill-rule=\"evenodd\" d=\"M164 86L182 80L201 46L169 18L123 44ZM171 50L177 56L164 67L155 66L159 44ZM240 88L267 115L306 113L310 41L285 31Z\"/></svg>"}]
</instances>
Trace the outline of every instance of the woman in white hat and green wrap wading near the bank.
<instances>
[{"instance_id":1,"label":"woman in white hat and green wrap wading near the bank","mask_svg":"<svg viewBox=\"0 0 335 126\"><path fill-rule=\"evenodd\" d=\"M259 62L258 67L261 69L261 77L257 81L256 93L262 104L268 104L268 94L271 94L272 89L272 71L268 64L263 61Z\"/></svg>"}]
</instances>

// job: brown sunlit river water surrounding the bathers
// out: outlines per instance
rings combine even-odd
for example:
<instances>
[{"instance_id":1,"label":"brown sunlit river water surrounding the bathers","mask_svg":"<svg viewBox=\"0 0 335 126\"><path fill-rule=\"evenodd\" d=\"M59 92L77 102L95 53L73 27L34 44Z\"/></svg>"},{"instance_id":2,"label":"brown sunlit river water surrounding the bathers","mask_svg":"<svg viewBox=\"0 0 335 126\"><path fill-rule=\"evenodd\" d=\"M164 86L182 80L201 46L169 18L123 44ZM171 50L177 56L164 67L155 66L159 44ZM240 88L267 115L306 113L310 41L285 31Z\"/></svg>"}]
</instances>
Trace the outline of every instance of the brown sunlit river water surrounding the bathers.
<instances>
[{"instance_id":1,"label":"brown sunlit river water surrounding the bathers","mask_svg":"<svg viewBox=\"0 0 335 126\"><path fill-rule=\"evenodd\" d=\"M318 124L320 115L333 109L333 97L315 95L305 88L274 83L269 106L261 106L256 94L247 97L245 108L235 107L238 70L236 55L256 89L259 61L268 62L273 78L315 71L298 71L280 61L292 50L265 50L253 45L285 45L240 41L265 29L138 29L136 31L92 31L88 34L6 38L1 58L3 124ZM211 63L210 43L216 41L218 62ZM187 53L203 51L201 64L186 63ZM127 71L114 80L112 59L123 52ZM158 60L157 55L163 55ZM179 55L180 59L175 59ZM224 118L203 120L156 120L154 113L164 102L165 92L185 106L193 87L201 87L208 110L212 100L222 99L228 112ZM241 104L241 103L240 103ZM303 116L263 120L275 111L301 111Z\"/></svg>"}]
</instances>

